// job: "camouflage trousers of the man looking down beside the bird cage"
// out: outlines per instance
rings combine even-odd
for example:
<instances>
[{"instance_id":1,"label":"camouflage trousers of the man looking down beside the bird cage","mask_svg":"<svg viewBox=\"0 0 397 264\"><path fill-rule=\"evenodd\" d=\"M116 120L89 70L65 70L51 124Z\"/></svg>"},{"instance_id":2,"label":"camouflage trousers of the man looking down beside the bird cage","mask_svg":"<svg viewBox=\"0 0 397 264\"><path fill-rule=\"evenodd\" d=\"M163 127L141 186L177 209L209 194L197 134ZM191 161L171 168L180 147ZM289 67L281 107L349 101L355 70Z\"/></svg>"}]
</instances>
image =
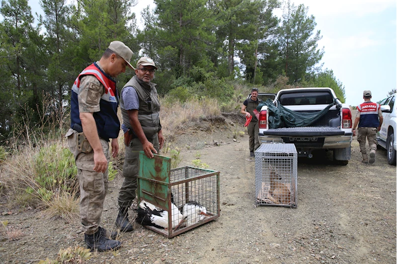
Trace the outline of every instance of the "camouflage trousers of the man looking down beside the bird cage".
<instances>
[{"instance_id":1,"label":"camouflage trousers of the man looking down beside the bird cage","mask_svg":"<svg viewBox=\"0 0 397 264\"><path fill-rule=\"evenodd\" d=\"M69 149L75 156L77 175L80 186L80 220L87 235L96 232L99 226L108 187L108 168L104 173L94 171L94 151L79 152L76 143L77 131L70 129L68 137ZM102 150L109 164L109 142L99 138Z\"/></svg>"}]
</instances>

